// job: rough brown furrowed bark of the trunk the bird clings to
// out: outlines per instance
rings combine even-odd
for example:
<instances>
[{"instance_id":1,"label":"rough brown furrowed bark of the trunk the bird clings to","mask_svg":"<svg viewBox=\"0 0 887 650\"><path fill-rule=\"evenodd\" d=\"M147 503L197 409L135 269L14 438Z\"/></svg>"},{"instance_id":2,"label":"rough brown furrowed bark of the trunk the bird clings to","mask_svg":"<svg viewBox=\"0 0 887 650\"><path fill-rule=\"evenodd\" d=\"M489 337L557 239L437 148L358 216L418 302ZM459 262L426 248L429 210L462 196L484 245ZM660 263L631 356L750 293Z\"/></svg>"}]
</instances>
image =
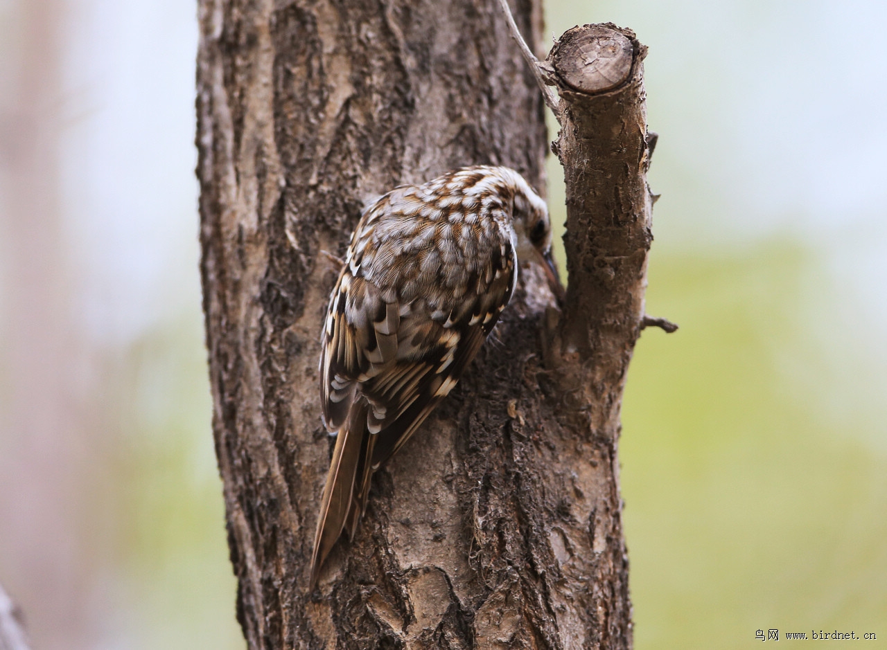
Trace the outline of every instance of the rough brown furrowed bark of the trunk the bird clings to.
<instances>
[{"instance_id":1,"label":"rough brown furrowed bark of the trunk the bird clings to","mask_svg":"<svg viewBox=\"0 0 887 650\"><path fill-rule=\"evenodd\" d=\"M537 2L515 9L523 34L542 33ZM541 273L522 273L308 592L332 449L318 339L337 274L323 251L345 251L367 200L459 166L513 166L542 189L543 103L492 0L200 0L200 32L213 429L248 646L630 647L616 438L649 244L642 120L601 113L616 120L593 127L608 129L601 159L577 162L600 196L570 199L571 307L561 317ZM637 92L632 56L622 85ZM597 146L559 142L565 163Z\"/></svg>"}]
</instances>

